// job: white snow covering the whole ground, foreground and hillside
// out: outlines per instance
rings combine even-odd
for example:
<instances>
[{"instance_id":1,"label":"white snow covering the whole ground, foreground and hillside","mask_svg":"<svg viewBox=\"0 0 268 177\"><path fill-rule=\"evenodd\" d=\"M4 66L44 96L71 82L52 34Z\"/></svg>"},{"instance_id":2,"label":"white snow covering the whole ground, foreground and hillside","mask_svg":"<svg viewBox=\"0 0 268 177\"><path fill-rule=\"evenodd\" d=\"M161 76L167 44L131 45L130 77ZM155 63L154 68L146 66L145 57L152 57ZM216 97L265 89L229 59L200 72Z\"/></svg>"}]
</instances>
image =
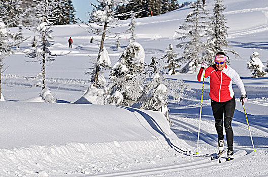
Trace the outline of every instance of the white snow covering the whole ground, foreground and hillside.
<instances>
[{"instance_id":1,"label":"white snow covering the whole ground, foreground and hillside","mask_svg":"<svg viewBox=\"0 0 268 177\"><path fill-rule=\"evenodd\" d=\"M206 1L212 8L212 0ZM244 110L239 102L233 117L235 159L218 163L208 154L217 152L217 135L205 82L199 155L196 151L202 83L194 74L168 76L191 86L180 103L170 102L174 125L159 112L135 108L72 104L88 86L88 75L98 52L99 39L79 25L53 27L53 53L70 54L47 64L47 84L56 103L38 102L35 84L41 71L38 62L15 51L5 60L0 102L0 176L268 176L268 77L251 78L249 56L257 51L263 64L268 60L268 11L266 0L225 0L230 27L228 40L239 58L230 56L231 67L240 74L249 97L245 104L256 153L252 151ZM190 12L188 7L161 16L136 19L137 41L145 49L145 62L162 56L175 31ZM129 20L119 28L127 29ZM85 27L82 25L82 27ZM11 31L17 31L11 28ZM23 34L32 36L24 29ZM68 49L68 38L74 40ZM91 37L93 43L90 43ZM121 47L129 35L121 36ZM112 65L123 49L113 50L115 38L106 40ZM29 48L31 38L21 45ZM182 52L178 50L178 52ZM108 72L105 76L108 77ZM225 144L226 147L226 144ZM225 156L225 155L223 155Z\"/></svg>"}]
</instances>

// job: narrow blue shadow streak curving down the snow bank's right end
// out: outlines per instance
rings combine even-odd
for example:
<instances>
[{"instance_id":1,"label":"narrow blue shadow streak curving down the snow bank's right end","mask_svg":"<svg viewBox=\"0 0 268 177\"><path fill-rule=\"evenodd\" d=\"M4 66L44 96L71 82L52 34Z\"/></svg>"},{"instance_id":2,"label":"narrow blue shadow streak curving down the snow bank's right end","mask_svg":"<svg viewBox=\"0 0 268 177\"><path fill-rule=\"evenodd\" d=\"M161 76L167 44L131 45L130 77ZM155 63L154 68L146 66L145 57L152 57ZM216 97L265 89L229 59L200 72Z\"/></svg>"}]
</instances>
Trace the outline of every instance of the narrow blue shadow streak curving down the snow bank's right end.
<instances>
[{"instance_id":1,"label":"narrow blue shadow streak curving down the snow bank's right end","mask_svg":"<svg viewBox=\"0 0 268 177\"><path fill-rule=\"evenodd\" d=\"M133 108L129 108L129 107L121 107L120 108L124 108L128 111L130 111L133 115L135 115L135 112L139 113L142 117L144 117L144 119L149 123L149 125L161 136L164 137L165 141L168 143L168 145L174 149L175 151L177 151L178 153L185 153L186 151L178 148L177 146L175 146L171 140L166 137L165 132L162 130L162 128L158 125L158 123L154 120L153 117L151 117L150 115L146 114L145 112L140 111L139 109L133 109ZM135 115L136 116L136 115ZM137 116L136 116L137 117ZM139 120L139 118L137 117L137 119ZM141 121L139 120L139 122L141 123ZM142 124L142 123L141 123ZM142 126L147 129L143 124ZM147 129L148 130L148 129ZM150 132L150 130L148 130ZM151 133L152 134L152 133Z\"/></svg>"}]
</instances>

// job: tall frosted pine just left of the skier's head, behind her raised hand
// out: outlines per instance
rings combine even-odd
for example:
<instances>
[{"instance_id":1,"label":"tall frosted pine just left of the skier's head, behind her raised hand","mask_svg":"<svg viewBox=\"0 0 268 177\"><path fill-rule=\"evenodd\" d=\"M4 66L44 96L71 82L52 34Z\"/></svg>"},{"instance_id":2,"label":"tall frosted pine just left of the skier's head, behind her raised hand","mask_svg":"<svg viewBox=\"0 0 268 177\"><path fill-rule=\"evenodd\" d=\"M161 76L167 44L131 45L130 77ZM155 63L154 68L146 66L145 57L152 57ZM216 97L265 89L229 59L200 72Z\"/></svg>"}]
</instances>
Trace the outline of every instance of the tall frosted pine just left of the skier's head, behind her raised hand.
<instances>
[{"instance_id":1,"label":"tall frosted pine just left of the skier's head, behind her raised hand","mask_svg":"<svg viewBox=\"0 0 268 177\"><path fill-rule=\"evenodd\" d=\"M202 52L205 46L203 38L208 25L208 12L200 0L192 3L191 9L192 12L186 16L183 25L176 31L177 39L182 41L176 47L183 49L178 62L186 63L181 69L183 73L195 71L198 64L202 63Z\"/></svg>"}]
</instances>

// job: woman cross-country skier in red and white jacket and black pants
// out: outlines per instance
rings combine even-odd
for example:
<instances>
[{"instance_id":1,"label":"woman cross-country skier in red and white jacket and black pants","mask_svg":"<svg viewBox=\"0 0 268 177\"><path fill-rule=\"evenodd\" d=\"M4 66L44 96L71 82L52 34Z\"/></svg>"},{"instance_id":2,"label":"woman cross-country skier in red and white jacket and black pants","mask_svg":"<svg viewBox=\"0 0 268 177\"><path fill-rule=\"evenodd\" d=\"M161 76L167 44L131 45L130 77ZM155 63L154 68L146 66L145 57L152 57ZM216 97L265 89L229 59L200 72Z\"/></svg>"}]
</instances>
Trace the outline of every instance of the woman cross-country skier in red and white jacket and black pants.
<instances>
[{"instance_id":1,"label":"woman cross-country skier in red and white jacket and black pants","mask_svg":"<svg viewBox=\"0 0 268 177\"><path fill-rule=\"evenodd\" d=\"M214 61L215 64L209 67L207 67L206 61L203 61L197 74L197 80L203 81L204 74L205 78L210 77L209 96L211 98L211 107L218 134L219 154L224 152L224 124L228 146L227 158L231 160L233 159L233 131L231 121L236 108L232 83L237 84L239 87L241 93L240 101L245 103L248 98L240 76L234 69L226 65L226 55L223 52L218 52Z\"/></svg>"}]
</instances>

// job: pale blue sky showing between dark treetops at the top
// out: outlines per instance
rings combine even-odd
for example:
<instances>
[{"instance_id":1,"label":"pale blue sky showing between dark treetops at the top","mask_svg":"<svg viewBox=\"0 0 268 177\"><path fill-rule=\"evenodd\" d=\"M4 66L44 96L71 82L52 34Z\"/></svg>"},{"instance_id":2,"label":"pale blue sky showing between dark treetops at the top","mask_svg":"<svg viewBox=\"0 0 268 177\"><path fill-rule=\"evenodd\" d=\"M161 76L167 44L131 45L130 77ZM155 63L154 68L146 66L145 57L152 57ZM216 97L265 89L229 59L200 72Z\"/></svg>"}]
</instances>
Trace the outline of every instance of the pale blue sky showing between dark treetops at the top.
<instances>
[{"instance_id":1,"label":"pale blue sky showing between dark treetops at the top","mask_svg":"<svg viewBox=\"0 0 268 177\"><path fill-rule=\"evenodd\" d=\"M178 0L178 3L187 2L190 0ZM94 4L96 0L73 0L73 5L76 10L76 17L80 18L83 21L88 20L87 12L91 12L91 2Z\"/></svg>"}]
</instances>

